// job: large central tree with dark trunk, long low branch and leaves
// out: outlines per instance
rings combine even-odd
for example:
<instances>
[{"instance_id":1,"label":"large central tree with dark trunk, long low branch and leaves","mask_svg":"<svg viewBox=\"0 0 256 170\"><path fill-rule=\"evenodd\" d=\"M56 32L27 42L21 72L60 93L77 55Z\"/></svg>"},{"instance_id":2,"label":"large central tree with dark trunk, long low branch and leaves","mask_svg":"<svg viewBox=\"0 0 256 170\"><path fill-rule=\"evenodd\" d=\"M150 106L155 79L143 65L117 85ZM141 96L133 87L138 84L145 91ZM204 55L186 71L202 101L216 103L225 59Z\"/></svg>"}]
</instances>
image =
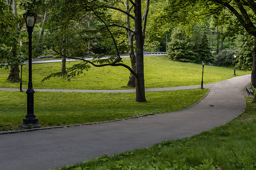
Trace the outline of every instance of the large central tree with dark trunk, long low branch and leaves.
<instances>
[{"instance_id":1,"label":"large central tree with dark trunk, long low branch and leaves","mask_svg":"<svg viewBox=\"0 0 256 170\"><path fill-rule=\"evenodd\" d=\"M114 4L113 4L114 3ZM55 20L57 22L59 28L61 28L62 32L67 33L68 42L59 44L56 48L56 42L50 41L48 46L60 55L67 58L74 58L83 60L84 62L81 64L77 64L68 68L65 73L55 73L44 80L52 77L52 76L74 76L80 74L82 70L89 69L91 65L96 67L103 66L123 66L127 68L131 73L133 73L136 77L136 101L145 102L145 87L144 87L144 64L143 64L143 32L142 32L142 14L141 14L141 1L130 1L134 8L134 16L125 12L122 9L115 7L115 2L113 1L100 1L100 0L85 0L85 1L71 1L71 0L63 0L59 6L56 6L56 13L51 15L49 18L50 21ZM125 15L128 15L135 23L135 31L130 30L123 25L120 25L119 21L113 21L110 17L111 10L116 10L118 12L122 12ZM90 15L92 19L94 19L94 26L84 27L87 25L87 17ZM62 27L64 26L64 27ZM68 28L65 29L65 28ZM115 29L119 28L119 29ZM123 33L120 32L120 29L129 30L134 32L135 34L135 42L136 42L136 72L132 70L131 67L121 63L122 59L120 57L120 51L123 50L122 43L117 43L116 39L119 35ZM59 39L59 38L58 38ZM95 54L90 55L90 57L94 57L93 61L87 60L88 49L84 48L85 44L88 44L91 40L97 40L100 43L106 43L111 47L111 50L108 51L111 57L108 59L101 59L105 57L106 54ZM79 43L77 43L79 42ZM60 49L63 46L68 47L69 53L63 55L60 52ZM100 59L100 60L99 60Z\"/></svg>"}]
</instances>

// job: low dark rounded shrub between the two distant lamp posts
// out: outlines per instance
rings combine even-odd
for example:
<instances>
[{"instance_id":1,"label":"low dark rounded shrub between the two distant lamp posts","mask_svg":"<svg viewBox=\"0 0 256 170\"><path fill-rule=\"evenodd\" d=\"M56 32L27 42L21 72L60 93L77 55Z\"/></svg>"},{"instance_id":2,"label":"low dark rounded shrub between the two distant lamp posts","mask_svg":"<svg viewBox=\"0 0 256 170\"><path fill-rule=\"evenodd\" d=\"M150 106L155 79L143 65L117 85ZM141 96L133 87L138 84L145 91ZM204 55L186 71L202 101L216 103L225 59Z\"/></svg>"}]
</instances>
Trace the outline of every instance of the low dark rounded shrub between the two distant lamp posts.
<instances>
[{"instance_id":1,"label":"low dark rounded shrub between the two distant lamp posts","mask_svg":"<svg viewBox=\"0 0 256 170\"><path fill-rule=\"evenodd\" d=\"M236 50L223 50L220 51L214 58L214 65L221 67L233 67L234 66L234 55L238 55Z\"/></svg>"}]
</instances>

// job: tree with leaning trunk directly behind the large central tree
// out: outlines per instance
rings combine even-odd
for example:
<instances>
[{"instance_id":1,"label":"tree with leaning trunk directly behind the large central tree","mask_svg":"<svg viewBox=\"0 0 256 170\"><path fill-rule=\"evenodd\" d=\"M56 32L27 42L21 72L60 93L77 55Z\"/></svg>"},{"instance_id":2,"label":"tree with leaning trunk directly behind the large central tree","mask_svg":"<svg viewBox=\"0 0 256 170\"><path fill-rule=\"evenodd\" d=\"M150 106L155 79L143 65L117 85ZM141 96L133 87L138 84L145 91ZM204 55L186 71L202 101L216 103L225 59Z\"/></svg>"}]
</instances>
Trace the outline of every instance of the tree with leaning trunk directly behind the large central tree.
<instances>
[{"instance_id":1,"label":"tree with leaning trunk directly behind the large central tree","mask_svg":"<svg viewBox=\"0 0 256 170\"><path fill-rule=\"evenodd\" d=\"M142 34L143 34L143 44L146 45L146 47L155 46L158 42L151 40L155 37L160 37L164 32L168 31L168 27L165 25L157 25L157 27L152 28L152 25L155 25L155 20L159 9L162 9L164 6L164 1L154 1L154 0L145 0L142 1ZM115 4L113 4L115 8L119 8L124 10L127 14L133 15L133 4L129 0L123 0L123 1L116 1ZM126 42L127 36L128 36L128 46L129 46L129 55L130 55L130 61L131 61L131 68L136 72L136 57L134 53L134 20L131 19L131 17L127 14L124 14L122 12L118 12L116 10L113 10L113 13L111 15L113 20L121 20L123 21L124 25L123 27L128 28L126 30L127 35L124 35L123 37L120 37L120 42ZM126 16L126 17L125 17ZM126 21L125 21L126 20ZM147 29L149 27L149 29ZM120 28L117 28L120 29ZM145 47L145 46L144 46ZM152 49L152 48L151 48ZM135 87L135 76L130 73L129 81L127 84L129 87Z\"/></svg>"}]
</instances>

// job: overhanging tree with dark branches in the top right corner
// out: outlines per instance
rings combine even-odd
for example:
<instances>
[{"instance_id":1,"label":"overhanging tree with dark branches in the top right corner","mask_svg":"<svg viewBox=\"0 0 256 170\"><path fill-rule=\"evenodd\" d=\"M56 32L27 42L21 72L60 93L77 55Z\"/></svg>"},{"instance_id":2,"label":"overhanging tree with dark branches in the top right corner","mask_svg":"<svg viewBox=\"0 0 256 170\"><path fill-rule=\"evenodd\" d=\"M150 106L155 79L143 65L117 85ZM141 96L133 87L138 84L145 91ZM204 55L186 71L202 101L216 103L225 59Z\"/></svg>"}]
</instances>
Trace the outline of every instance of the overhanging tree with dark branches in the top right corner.
<instances>
[{"instance_id":1,"label":"overhanging tree with dark branches in the top right corner","mask_svg":"<svg viewBox=\"0 0 256 170\"><path fill-rule=\"evenodd\" d=\"M226 32L220 36L223 38L234 38L237 34L247 32L254 37L253 64L251 72L251 83L256 85L256 27L254 21L256 18L256 2L252 0L194 0L194 1L168 1L165 8L166 16L163 16L168 22L174 22L177 25L186 25L186 28L192 29L197 23L205 22L209 16L213 17L213 26L215 28L225 27ZM220 29L219 29L220 30Z\"/></svg>"}]
</instances>

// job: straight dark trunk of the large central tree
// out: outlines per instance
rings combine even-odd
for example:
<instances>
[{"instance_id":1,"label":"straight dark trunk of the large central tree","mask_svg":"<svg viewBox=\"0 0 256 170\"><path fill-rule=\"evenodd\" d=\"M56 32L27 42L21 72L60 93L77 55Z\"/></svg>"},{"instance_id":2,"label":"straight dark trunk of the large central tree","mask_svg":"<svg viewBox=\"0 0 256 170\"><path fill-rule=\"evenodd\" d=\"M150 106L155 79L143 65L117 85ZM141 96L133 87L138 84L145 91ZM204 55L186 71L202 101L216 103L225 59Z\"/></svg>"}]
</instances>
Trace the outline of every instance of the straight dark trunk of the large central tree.
<instances>
[{"instance_id":1,"label":"straight dark trunk of the large central tree","mask_svg":"<svg viewBox=\"0 0 256 170\"><path fill-rule=\"evenodd\" d=\"M141 26L141 0L134 1L135 41L136 41L136 101L146 102L143 63L143 34Z\"/></svg>"}]
</instances>

